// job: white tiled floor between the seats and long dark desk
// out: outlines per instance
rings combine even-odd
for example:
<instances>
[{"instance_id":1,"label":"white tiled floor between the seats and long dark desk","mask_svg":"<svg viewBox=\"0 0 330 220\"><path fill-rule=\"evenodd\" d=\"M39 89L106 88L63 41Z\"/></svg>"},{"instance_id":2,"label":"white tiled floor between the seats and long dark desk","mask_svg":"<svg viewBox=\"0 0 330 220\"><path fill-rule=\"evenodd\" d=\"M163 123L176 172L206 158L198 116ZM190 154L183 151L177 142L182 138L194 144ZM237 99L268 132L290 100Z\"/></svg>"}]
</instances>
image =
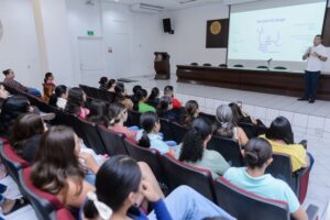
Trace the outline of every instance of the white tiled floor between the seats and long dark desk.
<instances>
[{"instance_id":1,"label":"white tiled floor between the seats and long dark desk","mask_svg":"<svg viewBox=\"0 0 330 220\"><path fill-rule=\"evenodd\" d=\"M265 121L267 124L277 116L289 119L295 130L295 140L308 140L309 152L315 156L316 163L310 174L307 198L304 202L306 208L314 204L320 208L321 220L329 220L329 211L326 208L330 200L330 101L317 101L314 105L298 102L296 98L276 95L264 95L232 89L222 89L198 85L177 84L175 79L153 80L151 76L135 77L136 82L127 84L131 91L133 85L142 85L148 90L157 86L164 88L166 85L175 87L176 96L183 101L196 99L202 111L213 113L220 103L242 101L243 108L252 116ZM4 179L10 185L11 197L16 197L18 188L12 180ZM0 182L3 183L3 179ZM328 215L326 217L326 210ZM0 215L1 216L1 215ZM21 209L8 217L10 220L34 220L35 213L31 207Z\"/></svg>"}]
</instances>

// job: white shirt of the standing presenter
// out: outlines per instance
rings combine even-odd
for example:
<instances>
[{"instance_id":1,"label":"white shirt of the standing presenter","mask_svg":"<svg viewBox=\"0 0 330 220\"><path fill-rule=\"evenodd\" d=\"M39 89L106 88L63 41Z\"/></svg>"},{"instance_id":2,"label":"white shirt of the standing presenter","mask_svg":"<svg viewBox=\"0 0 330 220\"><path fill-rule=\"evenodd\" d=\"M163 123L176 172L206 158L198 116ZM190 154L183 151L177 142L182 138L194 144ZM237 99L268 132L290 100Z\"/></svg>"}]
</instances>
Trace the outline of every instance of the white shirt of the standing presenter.
<instances>
[{"instance_id":1,"label":"white shirt of the standing presenter","mask_svg":"<svg viewBox=\"0 0 330 220\"><path fill-rule=\"evenodd\" d=\"M323 57L328 57L326 46L323 46L322 44L319 44L318 46L311 46L310 55L307 58L307 67L306 67L307 72L320 72L322 69L323 62L319 59L317 56L312 56L314 53L317 53Z\"/></svg>"}]
</instances>

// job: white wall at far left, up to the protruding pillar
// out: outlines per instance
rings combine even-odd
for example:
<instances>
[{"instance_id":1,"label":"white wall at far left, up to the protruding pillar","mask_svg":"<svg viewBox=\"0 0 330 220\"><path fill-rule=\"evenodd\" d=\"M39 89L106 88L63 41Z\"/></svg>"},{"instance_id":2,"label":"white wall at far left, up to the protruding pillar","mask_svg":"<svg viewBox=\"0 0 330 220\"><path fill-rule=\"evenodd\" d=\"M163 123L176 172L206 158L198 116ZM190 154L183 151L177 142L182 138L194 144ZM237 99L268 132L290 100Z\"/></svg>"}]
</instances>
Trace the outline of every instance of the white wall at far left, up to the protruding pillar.
<instances>
[{"instance_id":1,"label":"white wall at far left, up to the protruding pillar","mask_svg":"<svg viewBox=\"0 0 330 220\"><path fill-rule=\"evenodd\" d=\"M41 88L43 74L32 0L1 0L0 20L4 31L0 41L0 79L3 69L12 68L19 81Z\"/></svg>"}]
</instances>

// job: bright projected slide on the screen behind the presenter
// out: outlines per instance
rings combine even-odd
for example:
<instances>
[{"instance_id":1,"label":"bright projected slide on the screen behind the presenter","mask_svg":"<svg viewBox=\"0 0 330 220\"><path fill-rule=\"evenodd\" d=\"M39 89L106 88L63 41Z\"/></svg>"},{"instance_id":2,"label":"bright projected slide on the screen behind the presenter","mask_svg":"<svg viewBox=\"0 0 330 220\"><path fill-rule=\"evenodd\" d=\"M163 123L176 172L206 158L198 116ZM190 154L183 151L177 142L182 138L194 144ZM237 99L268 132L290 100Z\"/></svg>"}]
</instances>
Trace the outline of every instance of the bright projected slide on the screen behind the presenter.
<instances>
[{"instance_id":1,"label":"bright projected slide on the screen behind the presenter","mask_svg":"<svg viewBox=\"0 0 330 220\"><path fill-rule=\"evenodd\" d=\"M301 62L322 32L324 10L317 2L231 13L228 58Z\"/></svg>"}]
</instances>

